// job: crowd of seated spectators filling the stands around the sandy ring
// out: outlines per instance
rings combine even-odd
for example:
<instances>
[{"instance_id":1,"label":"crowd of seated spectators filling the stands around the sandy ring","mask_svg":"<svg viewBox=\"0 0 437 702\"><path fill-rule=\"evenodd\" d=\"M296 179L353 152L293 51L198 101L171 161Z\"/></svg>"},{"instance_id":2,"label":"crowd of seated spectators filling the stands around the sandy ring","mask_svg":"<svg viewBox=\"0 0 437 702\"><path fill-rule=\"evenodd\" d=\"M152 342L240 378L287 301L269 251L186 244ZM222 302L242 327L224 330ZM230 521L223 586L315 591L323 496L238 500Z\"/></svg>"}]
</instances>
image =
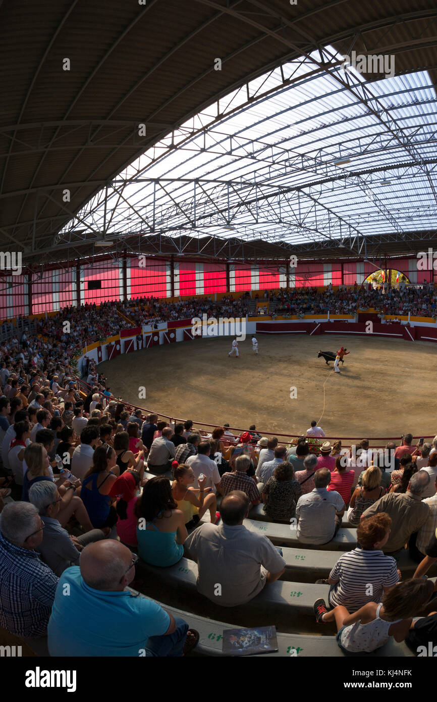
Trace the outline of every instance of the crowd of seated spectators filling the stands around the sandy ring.
<instances>
[{"instance_id":1,"label":"crowd of seated spectators filling the stands around the sandy ring","mask_svg":"<svg viewBox=\"0 0 437 702\"><path fill-rule=\"evenodd\" d=\"M419 291L410 307L403 292L381 296L411 312L434 304ZM364 291L354 304L374 306L375 294ZM120 311L130 318L129 310ZM177 309L153 300L146 319L217 310L211 300ZM112 305L70 312L72 329L86 325L82 333L105 336L119 324ZM436 637L437 614L416 617L436 589L421 578L437 562L437 437L415 445L405 433L398 446L387 444L386 462L368 439L353 451L330 444L315 421L288 446L255 425L240 436L229 425L210 435L191 420L170 426L128 411L89 359L89 392L80 392L69 365L79 336L62 331L61 317L42 319L41 336L24 331L0 348L1 627L32 645L48 636L51 655L186 654L198 633L133 597L126 587L135 564L169 567L185 555L198 565L203 597L246 604L285 569L281 549L246 528L250 512L262 510L295 528L302 548L332 541L345 516L357 527L357 548L339 557L326 601L314 606L318 622L336 623L342 649L372 651L390 637L417 649ZM401 580L405 548L417 570Z\"/></svg>"}]
</instances>

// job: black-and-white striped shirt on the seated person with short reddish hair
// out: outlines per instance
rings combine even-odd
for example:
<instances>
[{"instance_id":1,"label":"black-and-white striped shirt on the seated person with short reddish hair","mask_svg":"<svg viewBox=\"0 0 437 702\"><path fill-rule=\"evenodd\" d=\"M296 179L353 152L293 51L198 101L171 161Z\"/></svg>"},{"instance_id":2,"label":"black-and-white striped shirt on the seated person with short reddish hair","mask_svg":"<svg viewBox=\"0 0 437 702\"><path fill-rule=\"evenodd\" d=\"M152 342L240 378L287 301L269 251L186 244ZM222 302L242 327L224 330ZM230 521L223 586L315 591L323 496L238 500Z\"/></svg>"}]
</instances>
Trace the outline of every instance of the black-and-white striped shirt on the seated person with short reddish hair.
<instances>
[{"instance_id":1,"label":"black-and-white striped shirt on the seated person with short reddish hair","mask_svg":"<svg viewBox=\"0 0 437 702\"><path fill-rule=\"evenodd\" d=\"M341 555L329 576L338 581L331 585L329 604L342 604L349 614L368 602L380 602L383 588L390 588L399 580L394 557L362 548Z\"/></svg>"}]
</instances>

